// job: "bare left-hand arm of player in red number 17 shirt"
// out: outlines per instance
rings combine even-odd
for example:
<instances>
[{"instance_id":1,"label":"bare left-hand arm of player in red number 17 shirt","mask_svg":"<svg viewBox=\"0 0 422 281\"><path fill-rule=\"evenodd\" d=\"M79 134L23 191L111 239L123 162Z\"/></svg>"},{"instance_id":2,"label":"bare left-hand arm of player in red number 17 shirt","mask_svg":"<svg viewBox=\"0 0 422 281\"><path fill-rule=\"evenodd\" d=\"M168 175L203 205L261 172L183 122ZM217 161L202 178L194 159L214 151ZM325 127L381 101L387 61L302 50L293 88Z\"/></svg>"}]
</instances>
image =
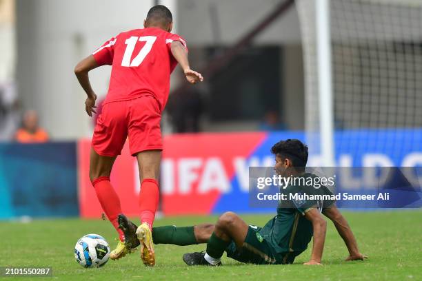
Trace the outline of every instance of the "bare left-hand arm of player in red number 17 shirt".
<instances>
[{"instance_id":1,"label":"bare left-hand arm of player in red number 17 shirt","mask_svg":"<svg viewBox=\"0 0 422 281\"><path fill-rule=\"evenodd\" d=\"M98 66L99 65L97 65L97 61L95 61L94 56L90 55L82 61L79 61L77 66L74 67L74 74L77 76L79 84L81 84L83 90L88 96L85 101L85 110L89 116L92 116L92 112L97 113L94 110L96 107L95 101L97 100L97 94L95 94L94 90L92 90L88 72Z\"/></svg>"}]
</instances>

